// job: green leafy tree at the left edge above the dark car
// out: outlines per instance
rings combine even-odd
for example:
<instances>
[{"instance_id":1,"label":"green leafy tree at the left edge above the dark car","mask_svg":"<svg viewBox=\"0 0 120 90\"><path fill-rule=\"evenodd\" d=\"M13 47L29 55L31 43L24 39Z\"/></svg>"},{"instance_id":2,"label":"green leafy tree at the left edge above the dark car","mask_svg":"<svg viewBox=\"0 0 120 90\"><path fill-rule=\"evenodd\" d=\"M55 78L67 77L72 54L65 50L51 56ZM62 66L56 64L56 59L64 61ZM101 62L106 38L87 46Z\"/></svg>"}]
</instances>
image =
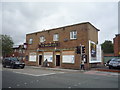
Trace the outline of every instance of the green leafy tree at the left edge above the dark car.
<instances>
[{"instance_id":1,"label":"green leafy tree at the left edge above the dark car","mask_svg":"<svg viewBox=\"0 0 120 90\"><path fill-rule=\"evenodd\" d=\"M0 35L2 38L2 56L6 57L12 52L13 40L9 35Z\"/></svg>"}]
</instances>

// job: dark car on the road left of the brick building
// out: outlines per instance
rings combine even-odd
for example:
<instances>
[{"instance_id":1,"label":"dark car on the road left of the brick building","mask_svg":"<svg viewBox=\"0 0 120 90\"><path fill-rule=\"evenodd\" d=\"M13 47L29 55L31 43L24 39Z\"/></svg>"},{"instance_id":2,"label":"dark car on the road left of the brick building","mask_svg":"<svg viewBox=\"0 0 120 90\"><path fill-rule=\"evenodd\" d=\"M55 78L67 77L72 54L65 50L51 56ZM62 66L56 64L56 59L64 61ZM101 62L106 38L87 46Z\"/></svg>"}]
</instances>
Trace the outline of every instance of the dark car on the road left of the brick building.
<instances>
[{"instance_id":1,"label":"dark car on the road left of the brick building","mask_svg":"<svg viewBox=\"0 0 120 90\"><path fill-rule=\"evenodd\" d=\"M18 60L16 57L8 57L4 58L2 61L3 67L10 66L11 68L21 68L23 69L25 67L25 63Z\"/></svg>"}]
</instances>

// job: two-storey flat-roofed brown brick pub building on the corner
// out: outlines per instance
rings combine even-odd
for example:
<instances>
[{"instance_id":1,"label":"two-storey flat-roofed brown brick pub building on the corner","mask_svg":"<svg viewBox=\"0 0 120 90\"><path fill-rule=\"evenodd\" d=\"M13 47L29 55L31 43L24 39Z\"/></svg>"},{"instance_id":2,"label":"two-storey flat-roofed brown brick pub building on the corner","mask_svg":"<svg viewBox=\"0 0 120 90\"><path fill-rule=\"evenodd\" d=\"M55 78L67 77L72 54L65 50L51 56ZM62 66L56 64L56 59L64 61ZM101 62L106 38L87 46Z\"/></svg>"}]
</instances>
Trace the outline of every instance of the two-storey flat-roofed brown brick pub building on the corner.
<instances>
[{"instance_id":1,"label":"two-storey flat-roofed brown brick pub building on the corner","mask_svg":"<svg viewBox=\"0 0 120 90\"><path fill-rule=\"evenodd\" d=\"M89 22L26 34L26 65L80 69L85 58L85 68L97 60L98 29Z\"/></svg>"}]
</instances>

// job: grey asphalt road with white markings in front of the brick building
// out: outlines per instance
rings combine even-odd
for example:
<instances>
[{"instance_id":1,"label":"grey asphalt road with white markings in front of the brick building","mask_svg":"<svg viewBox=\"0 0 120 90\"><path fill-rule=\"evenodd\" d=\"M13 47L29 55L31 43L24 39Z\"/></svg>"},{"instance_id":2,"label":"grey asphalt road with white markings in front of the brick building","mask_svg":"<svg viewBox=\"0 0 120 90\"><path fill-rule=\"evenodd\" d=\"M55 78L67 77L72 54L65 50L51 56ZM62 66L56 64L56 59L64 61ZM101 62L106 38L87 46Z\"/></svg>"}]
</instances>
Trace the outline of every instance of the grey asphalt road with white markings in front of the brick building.
<instances>
[{"instance_id":1,"label":"grey asphalt road with white markings in front of the brick building","mask_svg":"<svg viewBox=\"0 0 120 90\"><path fill-rule=\"evenodd\" d=\"M118 73L4 68L2 88L118 88Z\"/></svg>"}]
</instances>

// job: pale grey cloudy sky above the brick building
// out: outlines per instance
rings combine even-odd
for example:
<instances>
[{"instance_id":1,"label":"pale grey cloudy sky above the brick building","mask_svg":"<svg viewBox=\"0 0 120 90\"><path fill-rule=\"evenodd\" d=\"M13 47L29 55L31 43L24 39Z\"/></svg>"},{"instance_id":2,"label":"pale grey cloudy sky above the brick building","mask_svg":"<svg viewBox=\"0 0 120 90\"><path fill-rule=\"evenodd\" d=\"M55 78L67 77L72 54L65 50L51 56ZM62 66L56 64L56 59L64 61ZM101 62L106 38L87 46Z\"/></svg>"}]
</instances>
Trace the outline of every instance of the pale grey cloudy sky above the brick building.
<instances>
[{"instance_id":1,"label":"pale grey cloudy sky above the brick building","mask_svg":"<svg viewBox=\"0 0 120 90\"><path fill-rule=\"evenodd\" d=\"M118 33L117 2L2 2L1 12L2 33L16 45L25 42L27 33L82 22L100 29L100 44Z\"/></svg>"}]
</instances>

